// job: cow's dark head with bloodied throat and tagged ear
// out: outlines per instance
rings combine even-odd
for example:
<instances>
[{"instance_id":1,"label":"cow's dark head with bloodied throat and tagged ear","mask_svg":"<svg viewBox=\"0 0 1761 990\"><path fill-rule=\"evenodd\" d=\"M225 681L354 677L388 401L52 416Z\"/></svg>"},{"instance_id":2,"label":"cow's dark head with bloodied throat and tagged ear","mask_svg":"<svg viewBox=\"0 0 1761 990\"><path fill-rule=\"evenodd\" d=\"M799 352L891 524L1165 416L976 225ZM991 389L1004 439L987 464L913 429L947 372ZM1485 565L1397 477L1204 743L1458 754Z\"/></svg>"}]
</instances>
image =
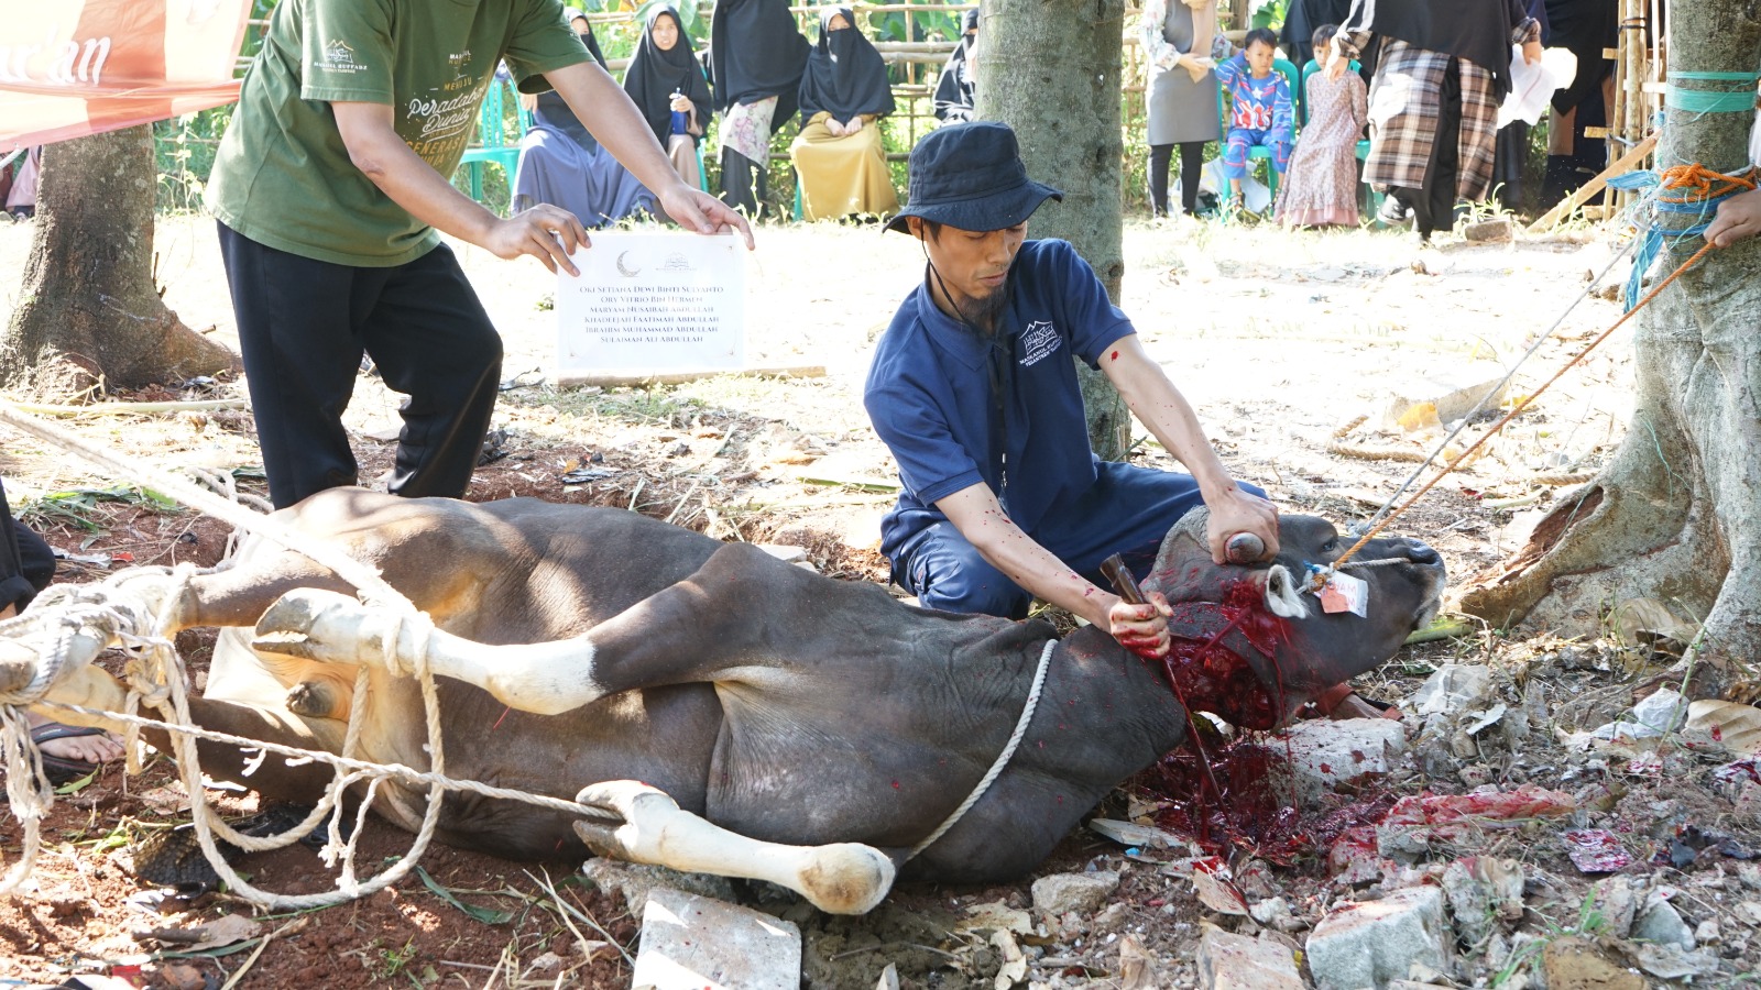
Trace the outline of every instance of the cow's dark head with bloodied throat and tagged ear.
<instances>
[{"instance_id":1,"label":"cow's dark head with bloodied throat and tagged ear","mask_svg":"<svg viewBox=\"0 0 1761 990\"><path fill-rule=\"evenodd\" d=\"M1143 587L1175 610L1169 671L1183 699L1236 726L1270 729L1381 664L1442 601L1442 558L1416 539L1372 539L1352 557L1345 573L1368 583L1367 615L1358 617L1323 611L1303 590L1310 564L1328 565L1352 543L1333 523L1280 516L1277 558L1247 567L1212 562L1206 523L1203 507L1180 520Z\"/></svg>"}]
</instances>

